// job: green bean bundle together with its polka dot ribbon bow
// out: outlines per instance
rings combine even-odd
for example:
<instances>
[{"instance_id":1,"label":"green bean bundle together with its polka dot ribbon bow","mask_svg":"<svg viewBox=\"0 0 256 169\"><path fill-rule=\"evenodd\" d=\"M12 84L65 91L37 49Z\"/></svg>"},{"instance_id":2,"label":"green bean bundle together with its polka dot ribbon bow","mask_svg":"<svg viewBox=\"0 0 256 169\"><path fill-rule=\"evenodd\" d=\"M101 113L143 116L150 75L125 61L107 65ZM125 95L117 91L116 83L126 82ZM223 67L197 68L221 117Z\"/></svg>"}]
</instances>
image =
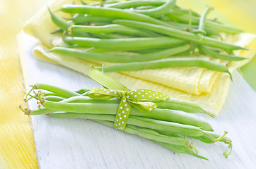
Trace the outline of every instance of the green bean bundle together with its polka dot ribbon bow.
<instances>
[{"instance_id":1,"label":"green bean bundle together with its polka dot ribbon bow","mask_svg":"<svg viewBox=\"0 0 256 169\"><path fill-rule=\"evenodd\" d=\"M94 120L150 139L172 151L192 154L205 160L208 159L198 154L199 151L188 137L207 144L224 142L229 147L224 155L228 157L231 153L232 142L226 137L227 132L215 134L209 123L186 114L206 113L197 104L170 99L168 95L150 89L130 90L93 66L89 77L103 87L71 92L49 84L35 84L25 94L24 100L36 99L38 109L23 109L20 106L21 111L26 115L47 114L56 118Z\"/></svg>"}]
</instances>

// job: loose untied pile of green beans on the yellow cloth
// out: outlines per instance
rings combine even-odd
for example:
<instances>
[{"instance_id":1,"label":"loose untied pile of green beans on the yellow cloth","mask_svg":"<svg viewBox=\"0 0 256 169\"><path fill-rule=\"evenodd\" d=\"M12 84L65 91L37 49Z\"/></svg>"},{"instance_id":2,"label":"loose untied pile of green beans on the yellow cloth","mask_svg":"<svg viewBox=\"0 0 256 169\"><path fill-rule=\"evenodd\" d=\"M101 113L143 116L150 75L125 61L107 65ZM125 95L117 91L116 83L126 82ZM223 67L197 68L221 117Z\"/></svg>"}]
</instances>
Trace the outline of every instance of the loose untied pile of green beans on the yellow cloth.
<instances>
[{"instance_id":1,"label":"loose untied pile of green beans on the yellow cloth","mask_svg":"<svg viewBox=\"0 0 256 169\"><path fill-rule=\"evenodd\" d=\"M243 30L207 19L211 8L199 15L175 3L132 0L65 4L60 11L71 14L68 21L49 10L59 27L53 33L62 32L64 36L64 45L50 52L117 63L105 66L105 72L196 66L229 73L226 65L197 58L194 51L228 61L245 59L233 55L234 50L243 47L219 39L221 32L235 34ZM109 51L130 51L134 55L105 54ZM187 57L171 57L179 55Z\"/></svg>"}]
</instances>

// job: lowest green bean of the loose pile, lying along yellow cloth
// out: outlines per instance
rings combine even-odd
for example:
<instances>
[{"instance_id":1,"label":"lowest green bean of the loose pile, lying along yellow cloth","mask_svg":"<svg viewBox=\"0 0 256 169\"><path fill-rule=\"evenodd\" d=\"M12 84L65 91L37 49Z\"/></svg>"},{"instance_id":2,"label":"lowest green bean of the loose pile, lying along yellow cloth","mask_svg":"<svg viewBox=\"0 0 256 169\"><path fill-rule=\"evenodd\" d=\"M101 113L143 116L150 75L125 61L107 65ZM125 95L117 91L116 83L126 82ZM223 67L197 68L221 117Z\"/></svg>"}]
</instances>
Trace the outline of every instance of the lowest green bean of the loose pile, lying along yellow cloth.
<instances>
[{"instance_id":1,"label":"lowest green bean of the loose pile, lying along yellow cloth","mask_svg":"<svg viewBox=\"0 0 256 169\"><path fill-rule=\"evenodd\" d=\"M228 73L232 80L232 75L225 65L220 63L206 61L201 58L167 58L158 61L146 61L146 62L132 62L122 63L117 65L109 65L104 67L104 72L122 72L122 71L136 71L144 69L159 69L159 68L173 68L173 67L199 67L209 70ZM101 70L101 68L98 68Z\"/></svg>"}]
</instances>

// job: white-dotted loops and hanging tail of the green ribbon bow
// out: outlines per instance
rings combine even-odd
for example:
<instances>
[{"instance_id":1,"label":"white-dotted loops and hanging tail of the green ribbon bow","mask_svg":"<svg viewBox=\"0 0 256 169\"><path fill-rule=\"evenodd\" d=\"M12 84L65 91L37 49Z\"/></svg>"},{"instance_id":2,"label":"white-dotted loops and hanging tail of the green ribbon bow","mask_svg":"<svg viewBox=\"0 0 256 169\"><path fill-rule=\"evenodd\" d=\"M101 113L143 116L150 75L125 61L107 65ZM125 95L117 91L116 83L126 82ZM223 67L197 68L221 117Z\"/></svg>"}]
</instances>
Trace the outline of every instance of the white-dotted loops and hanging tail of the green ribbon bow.
<instances>
[{"instance_id":1,"label":"white-dotted loops and hanging tail of the green ribbon bow","mask_svg":"<svg viewBox=\"0 0 256 169\"><path fill-rule=\"evenodd\" d=\"M122 91L115 89L105 89L102 87L94 87L90 90L88 96L92 99L102 100L108 100L117 97L121 98L120 105L115 116L114 128L122 131L125 131L125 125L129 118L129 113L131 112L132 106L144 113L153 111L157 108L157 105L153 102L141 102L138 101L138 99L154 99L161 101L168 99L168 95L149 89Z\"/></svg>"}]
</instances>

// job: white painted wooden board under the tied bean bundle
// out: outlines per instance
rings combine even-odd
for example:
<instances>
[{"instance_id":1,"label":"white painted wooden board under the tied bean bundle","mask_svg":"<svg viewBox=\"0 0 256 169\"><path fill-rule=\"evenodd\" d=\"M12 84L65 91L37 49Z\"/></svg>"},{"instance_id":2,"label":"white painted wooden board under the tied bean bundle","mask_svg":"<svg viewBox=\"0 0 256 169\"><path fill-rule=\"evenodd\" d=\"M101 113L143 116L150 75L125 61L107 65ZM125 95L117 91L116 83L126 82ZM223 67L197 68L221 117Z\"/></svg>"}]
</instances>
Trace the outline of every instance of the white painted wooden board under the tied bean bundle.
<instances>
[{"instance_id":1,"label":"white painted wooden board under the tied bean bundle","mask_svg":"<svg viewBox=\"0 0 256 169\"><path fill-rule=\"evenodd\" d=\"M33 57L35 39L19 35L18 44L24 84L42 82L66 89L99 86L96 82L66 69L38 61ZM30 106L30 108L32 108ZM228 98L216 118L194 115L208 121L222 134L228 131L233 151L228 158L223 143L204 144L193 140L204 161L187 154L178 154L147 139L126 134L91 120L30 116L38 163L41 169L56 168L256 168L256 93L238 73L234 73Z\"/></svg>"}]
</instances>

